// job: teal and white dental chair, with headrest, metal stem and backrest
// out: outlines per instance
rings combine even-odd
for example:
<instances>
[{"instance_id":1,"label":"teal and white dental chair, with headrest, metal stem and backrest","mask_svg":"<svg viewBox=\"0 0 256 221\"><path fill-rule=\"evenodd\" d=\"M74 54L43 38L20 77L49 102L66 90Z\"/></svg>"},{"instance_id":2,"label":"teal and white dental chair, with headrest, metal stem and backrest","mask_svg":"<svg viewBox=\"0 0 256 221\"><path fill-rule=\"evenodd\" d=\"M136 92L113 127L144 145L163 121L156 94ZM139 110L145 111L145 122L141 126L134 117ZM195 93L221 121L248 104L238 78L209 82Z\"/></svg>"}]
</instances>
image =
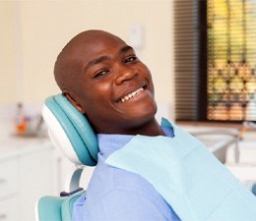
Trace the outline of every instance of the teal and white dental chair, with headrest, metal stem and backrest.
<instances>
[{"instance_id":1,"label":"teal and white dental chair, with headrest, metal stem and backrest","mask_svg":"<svg viewBox=\"0 0 256 221\"><path fill-rule=\"evenodd\" d=\"M86 117L62 94L45 100L42 117L53 145L77 165L77 169L71 176L68 192L39 198L35 218L37 221L71 221L75 200L86 192L79 187L83 169L96 165L96 135Z\"/></svg>"}]
</instances>

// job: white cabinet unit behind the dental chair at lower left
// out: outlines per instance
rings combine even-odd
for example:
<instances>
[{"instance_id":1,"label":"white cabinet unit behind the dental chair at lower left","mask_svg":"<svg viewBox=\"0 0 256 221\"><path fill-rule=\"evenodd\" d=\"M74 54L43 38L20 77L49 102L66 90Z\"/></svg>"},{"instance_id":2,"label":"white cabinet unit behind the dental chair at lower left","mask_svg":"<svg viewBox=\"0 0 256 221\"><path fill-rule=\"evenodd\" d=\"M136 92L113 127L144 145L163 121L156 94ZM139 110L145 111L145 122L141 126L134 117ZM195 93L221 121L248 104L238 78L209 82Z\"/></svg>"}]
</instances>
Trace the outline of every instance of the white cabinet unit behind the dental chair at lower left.
<instances>
[{"instance_id":1,"label":"white cabinet unit behind the dental chair at lower left","mask_svg":"<svg viewBox=\"0 0 256 221\"><path fill-rule=\"evenodd\" d=\"M68 190L76 167L49 139L8 143L8 148L0 146L0 221L34 221L36 201ZM82 188L87 188L93 171L88 167L83 172Z\"/></svg>"}]
</instances>

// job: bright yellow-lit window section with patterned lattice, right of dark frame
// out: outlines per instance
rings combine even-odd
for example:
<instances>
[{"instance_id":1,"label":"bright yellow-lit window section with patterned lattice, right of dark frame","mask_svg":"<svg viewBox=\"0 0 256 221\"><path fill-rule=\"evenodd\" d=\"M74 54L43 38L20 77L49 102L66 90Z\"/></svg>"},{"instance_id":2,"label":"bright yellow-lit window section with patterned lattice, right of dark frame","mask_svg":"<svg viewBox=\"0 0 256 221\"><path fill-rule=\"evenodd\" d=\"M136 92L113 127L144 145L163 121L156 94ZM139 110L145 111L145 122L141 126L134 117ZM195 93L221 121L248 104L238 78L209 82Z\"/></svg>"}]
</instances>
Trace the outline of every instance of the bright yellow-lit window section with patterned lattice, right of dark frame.
<instances>
[{"instance_id":1,"label":"bright yellow-lit window section with patterned lattice, right of dark frame","mask_svg":"<svg viewBox=\"0 0 256 221\"><path fill-rule=\"evenodd\" d=\"M256 120L255 0L208 1L209 120Z\"/></svg>"}]
</instances>

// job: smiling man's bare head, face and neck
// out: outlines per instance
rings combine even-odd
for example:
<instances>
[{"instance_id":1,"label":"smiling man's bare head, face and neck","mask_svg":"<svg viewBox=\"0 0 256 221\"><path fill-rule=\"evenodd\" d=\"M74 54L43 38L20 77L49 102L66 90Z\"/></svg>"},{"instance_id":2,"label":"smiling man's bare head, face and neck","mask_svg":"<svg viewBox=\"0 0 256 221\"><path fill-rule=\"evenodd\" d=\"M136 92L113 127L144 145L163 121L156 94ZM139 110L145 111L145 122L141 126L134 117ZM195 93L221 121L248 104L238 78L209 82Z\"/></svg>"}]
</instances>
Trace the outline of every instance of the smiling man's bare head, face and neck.
<instances>
[{"instance_id":1,"label":"smiling man's bare head, face and neck","mask_svg":"<svg viewBox=\"0 0 256 221\"><path fill-rule=\"evenodd\" d=\"M96 134L164 136L151 73L119 37L101 30L78 34L58 56L54 76Z\"/></svg>"}]
</instances>

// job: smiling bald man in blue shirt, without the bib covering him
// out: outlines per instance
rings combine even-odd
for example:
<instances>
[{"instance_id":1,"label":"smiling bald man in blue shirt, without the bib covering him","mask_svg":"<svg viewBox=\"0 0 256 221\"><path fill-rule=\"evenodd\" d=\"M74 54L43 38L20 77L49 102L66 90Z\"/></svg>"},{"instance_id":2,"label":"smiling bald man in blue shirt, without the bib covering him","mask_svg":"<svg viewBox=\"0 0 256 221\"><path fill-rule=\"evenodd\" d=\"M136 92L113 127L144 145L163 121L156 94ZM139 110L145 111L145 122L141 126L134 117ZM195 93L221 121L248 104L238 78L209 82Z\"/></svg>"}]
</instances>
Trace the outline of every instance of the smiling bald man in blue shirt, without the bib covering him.
<instances>
[{"instance_id":1,"label":"smiling bald man in blue shirt, without the bib covering him","mask_svg":"<svg viewBox=\"0 0 256 221\"><path fill-rule=\"evenodd\" d=\"M149 182L104 162L135 135L172 137L155 119L151 73L134 49L111 33L84 31L63 48L54 76L98 138L95 173L74 205L73 220L179 220Z\"/></svg>"}]
</instances>

